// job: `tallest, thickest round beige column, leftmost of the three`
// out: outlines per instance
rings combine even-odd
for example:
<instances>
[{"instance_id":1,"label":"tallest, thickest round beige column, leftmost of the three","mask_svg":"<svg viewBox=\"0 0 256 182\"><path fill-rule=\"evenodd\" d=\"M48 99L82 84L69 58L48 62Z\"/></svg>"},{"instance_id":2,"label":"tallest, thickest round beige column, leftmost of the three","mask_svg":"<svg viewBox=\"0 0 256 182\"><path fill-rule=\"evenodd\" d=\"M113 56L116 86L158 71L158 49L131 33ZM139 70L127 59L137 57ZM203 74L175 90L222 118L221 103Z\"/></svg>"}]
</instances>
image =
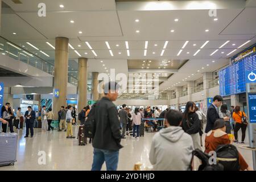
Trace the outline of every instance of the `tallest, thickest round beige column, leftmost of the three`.
<instances>
[{"instance_id":1,"label":"tallest, thickest round beige column, leftmost of the three","mask_svg":"<svg viewBox=\"0 0 256 182\"><path fill-rule=\"evenodd\" d=\"M57 112L61 106L67 105L68 84L68 38L59 37L55 39L55 64L54 64L54 86L59 89L59 98L53 97L54 119L58 118Z\"/></svg>"}]
</instances>

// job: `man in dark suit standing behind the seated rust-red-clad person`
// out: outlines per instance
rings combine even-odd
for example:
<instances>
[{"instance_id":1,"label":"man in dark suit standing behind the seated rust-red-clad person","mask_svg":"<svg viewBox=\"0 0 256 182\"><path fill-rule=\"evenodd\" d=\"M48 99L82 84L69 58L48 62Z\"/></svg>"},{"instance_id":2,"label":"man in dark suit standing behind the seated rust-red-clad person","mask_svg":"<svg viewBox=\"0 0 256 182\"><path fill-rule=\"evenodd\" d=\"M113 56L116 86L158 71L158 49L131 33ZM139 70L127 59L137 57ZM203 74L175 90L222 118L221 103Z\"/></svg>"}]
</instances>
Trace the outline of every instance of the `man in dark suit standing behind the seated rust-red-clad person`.
<instances>
[{"instance_id":1,"label":"man in dark suit standing behind the seated rust-red-clad person","mask_svg":"<svg viewBox=\"0 0 256 182\"><path fill-rule=\"evenodd\" d=\"M216 119L220 118L218 115L218 107L222 105L223 98L221 96L214 96L212 105L209 106L207 110L207 126L205 127L205 133L208 133L210 130L213 129L214 122ZM224 121L229 117L224 117Z\"/></svg>"}]
</instances>

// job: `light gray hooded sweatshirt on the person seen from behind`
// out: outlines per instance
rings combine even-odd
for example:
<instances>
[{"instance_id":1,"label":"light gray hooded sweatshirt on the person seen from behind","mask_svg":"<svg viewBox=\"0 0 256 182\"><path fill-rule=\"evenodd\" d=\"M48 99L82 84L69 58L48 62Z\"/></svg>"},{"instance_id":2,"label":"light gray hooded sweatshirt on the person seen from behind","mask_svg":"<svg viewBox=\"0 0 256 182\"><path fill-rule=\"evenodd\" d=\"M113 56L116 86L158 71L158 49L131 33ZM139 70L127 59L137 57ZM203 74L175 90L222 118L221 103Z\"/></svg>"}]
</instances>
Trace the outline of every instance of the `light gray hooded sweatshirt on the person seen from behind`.
<instances>
[{"instance_id":1,"label":"light gray hooded sweatshirt on the person seen from behind","mask_svg":"<svg viewBox=\"0 0 256 182\"><path fill-rule=\"evenodd\" d=\"M170 126L154 135L149 158L155 171L184 171L191 163L192 151L191 136L179 126Z\"/></svg>"}]
</instances>

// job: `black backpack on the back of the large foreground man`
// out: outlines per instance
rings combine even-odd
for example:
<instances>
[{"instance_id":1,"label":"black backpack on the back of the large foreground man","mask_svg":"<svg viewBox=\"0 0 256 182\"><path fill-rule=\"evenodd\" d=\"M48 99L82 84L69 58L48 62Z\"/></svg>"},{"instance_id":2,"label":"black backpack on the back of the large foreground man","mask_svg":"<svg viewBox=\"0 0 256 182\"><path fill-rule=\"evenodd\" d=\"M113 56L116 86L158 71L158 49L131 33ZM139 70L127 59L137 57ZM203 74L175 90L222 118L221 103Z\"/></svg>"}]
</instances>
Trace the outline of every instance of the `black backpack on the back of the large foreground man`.
<instances>
[{"instance_id":1,"label":"black backpack on the back of the large foreground man","mask_svg":"<svg viewBox=\"0 0 256 182\"><path fill-rule=\"evenodd\" d=\"M92 108L90 109L86 121L84 122L84 135L87 138L94 138L95 130L96 130L96 115L95 115L95 107L97 103L94 103L92 105Z\"/></svg>"}]
</instances>

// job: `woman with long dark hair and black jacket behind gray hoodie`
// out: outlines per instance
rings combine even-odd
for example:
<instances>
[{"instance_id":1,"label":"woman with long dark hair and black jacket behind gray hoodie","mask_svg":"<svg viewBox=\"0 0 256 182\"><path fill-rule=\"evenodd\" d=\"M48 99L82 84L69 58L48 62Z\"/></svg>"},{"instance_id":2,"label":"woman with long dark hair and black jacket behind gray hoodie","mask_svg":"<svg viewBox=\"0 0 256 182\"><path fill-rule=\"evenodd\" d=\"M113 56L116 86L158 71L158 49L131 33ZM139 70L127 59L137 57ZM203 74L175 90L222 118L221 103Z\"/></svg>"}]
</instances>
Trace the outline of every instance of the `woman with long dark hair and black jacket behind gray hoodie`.
<instances>
[{"instance_id":1,"label":"woman with long dark hair and black jacket behind gray hoodie","mask_svg":"<svg viewBox=\"0 0 256 182\"><path fill-rule=\"evenodd\" d=\"M185 111L183 113L182 128L185 131L185 133L191 135L194 148L199 148L201 150L199 135L201 125L199 117L196 114L195 108L196 104L194 102L187 102Z\"/></svg>"}]
</instances>

